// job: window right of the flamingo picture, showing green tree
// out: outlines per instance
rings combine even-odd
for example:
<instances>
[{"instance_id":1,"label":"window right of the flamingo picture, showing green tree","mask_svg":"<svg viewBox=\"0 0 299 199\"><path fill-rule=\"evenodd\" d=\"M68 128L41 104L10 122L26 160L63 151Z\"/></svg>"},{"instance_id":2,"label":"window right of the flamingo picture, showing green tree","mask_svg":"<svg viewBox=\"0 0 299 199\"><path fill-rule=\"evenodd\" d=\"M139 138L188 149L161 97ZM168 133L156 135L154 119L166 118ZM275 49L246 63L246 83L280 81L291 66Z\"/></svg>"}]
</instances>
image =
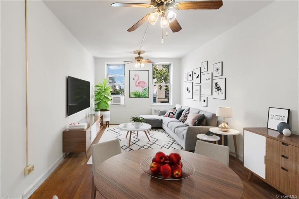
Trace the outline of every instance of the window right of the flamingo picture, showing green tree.
<instances>
[{"instance_id":1,"label":"window right of the flamingo picture, showing green tree","mask_svg":"<svg viewBox=\"0 0 299 199\"><path fill-rule=\"evenodd\" d=\"M152 65L153 104L170 104L170 64Z\"/></svg>"}]
</instances>

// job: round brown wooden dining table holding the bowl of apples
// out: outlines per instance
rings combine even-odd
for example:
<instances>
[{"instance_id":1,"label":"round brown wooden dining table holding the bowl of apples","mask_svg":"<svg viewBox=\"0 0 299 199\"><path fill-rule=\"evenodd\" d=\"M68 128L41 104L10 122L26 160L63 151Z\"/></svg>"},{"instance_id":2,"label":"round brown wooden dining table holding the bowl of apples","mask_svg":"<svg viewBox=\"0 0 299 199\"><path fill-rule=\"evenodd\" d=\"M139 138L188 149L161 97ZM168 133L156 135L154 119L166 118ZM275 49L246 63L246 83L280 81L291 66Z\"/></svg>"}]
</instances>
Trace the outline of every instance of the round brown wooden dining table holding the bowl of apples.
<instances>
[{"instance_id":1,"label":"round brown wooden dining table holding the bowl of apples","mask_svg":"<svg viewBox=\"0 0 299 199\"><path fill-rule=\"evenodd\" d=\"M140 163L158 151L179 153L195 172L182 180L150 177ZM113 156L97 167L94 184L105 198L241 198L243 194L242 181L229 167L203 155L170 149L140 149Z\"/></svg>"}]
</instances>

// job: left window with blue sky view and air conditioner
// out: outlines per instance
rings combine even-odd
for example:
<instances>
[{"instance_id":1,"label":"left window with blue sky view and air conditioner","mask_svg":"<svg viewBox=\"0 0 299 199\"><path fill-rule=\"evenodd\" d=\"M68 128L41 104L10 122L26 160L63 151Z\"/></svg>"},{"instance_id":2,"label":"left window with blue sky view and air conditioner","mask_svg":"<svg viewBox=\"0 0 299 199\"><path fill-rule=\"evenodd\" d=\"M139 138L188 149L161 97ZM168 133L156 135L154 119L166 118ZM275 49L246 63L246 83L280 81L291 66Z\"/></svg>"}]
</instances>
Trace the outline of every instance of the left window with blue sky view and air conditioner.
<instances>
[{"instance_id":1,"label":"left window with blue sky view and air conditioner","mask_svg":"<svg viewBox=\"0 0 299 199\"><path fill-rule=\"evenodd\" d=\"M124 104L125 65L107 64L107 79L112 87L111 104Z\"/></svg>"}]
</instances>

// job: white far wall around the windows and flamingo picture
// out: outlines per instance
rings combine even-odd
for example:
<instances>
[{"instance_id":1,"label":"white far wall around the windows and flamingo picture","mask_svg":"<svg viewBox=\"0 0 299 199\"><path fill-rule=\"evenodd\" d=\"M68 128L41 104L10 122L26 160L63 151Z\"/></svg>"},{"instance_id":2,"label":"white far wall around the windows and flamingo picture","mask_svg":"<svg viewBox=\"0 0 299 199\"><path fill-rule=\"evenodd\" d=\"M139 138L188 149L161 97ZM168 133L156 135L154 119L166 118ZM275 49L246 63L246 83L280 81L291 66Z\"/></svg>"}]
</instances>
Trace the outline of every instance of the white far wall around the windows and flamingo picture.
<instances>
[{"instance_id":1,"label":"white far wall around the windows and flamingo picture","mask_svg":"<svg viewBox=\"0 0 299 199\"><path fill-rule=\"evenodd\" d=\"M132 60L135 57L132 54L132 57L123 58L123 59L112 59L112 58L96 58L95 66L95 82L102 82L106 78L106 63L123 63L124 60ZM147 57L146 57L147 58ZM151 59L151 58L147 58ZM171 108L175 104L180 103L180 81L181 78L181 62L180 59L157 59L152 58L156 62L160 63L171 63L172 69L172 85L173 85L173 96L172 104L173 105L164 105L164 106L152 106L152 64L145 64L141 69L137 69L134 66L134 63L128 64L125 67L125 103L126 106L116 107L111 106L111 121L110 123L120 124L124 122L129 122L131 116L139 116L144 114L151 114L151 108L166 107ZM149 98L129 98L129 70L149 70Z\"/></svg>"}]
</instances>

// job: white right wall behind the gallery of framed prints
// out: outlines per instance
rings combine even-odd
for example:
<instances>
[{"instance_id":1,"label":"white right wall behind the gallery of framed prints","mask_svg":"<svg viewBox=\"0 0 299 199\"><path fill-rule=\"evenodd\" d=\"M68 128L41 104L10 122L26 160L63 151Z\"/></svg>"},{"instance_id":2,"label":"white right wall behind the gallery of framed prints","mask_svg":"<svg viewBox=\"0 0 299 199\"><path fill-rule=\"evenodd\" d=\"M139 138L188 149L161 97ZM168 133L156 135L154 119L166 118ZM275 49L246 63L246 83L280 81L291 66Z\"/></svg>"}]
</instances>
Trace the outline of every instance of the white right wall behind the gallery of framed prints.
<instances>
[{"instance_id":1,"label":"white right wall behind the gallery of framed prints","mask_svg":"<svg viewBox=\"0 0 299 199\"><path fill-rule=\"evenodd\" d=\"M230 106L234 117L227 121L241 132L266 127L268 107L289 108L292 133L299 134L298 54L298 1L274 1L182 58L181 102L213 113L217 106ZM183 74L206 60L208 72L223 62L223 76L217 78L226 77L226 100L208 96L208 107L202 107L184 98ZM242 134L237 136L241 157ZM232 137L228 145L234 151Z\"/></svg>"}]
</instances>

